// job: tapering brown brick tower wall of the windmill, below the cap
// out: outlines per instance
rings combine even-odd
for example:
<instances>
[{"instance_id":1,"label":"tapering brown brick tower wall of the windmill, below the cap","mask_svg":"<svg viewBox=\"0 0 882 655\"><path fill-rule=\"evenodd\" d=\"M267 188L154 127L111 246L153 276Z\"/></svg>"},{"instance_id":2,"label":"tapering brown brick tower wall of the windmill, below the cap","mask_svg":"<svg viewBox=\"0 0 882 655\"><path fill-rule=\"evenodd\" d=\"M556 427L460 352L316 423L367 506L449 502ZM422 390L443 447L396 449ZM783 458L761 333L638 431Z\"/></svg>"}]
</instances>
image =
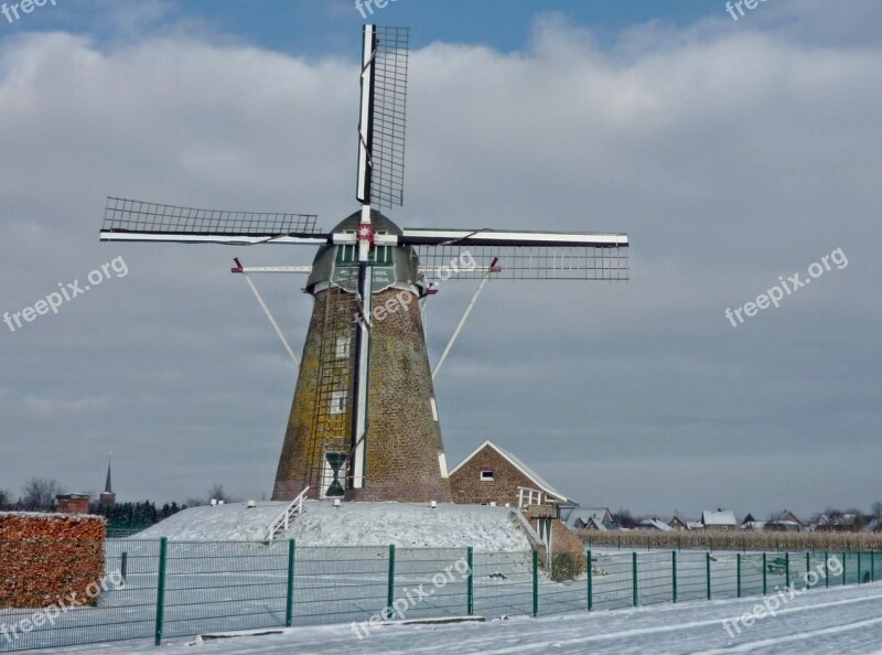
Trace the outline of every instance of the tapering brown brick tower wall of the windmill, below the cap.
<instances>
[{"instance_id":1,"label":"tapering brown brick tower wall of the windmill, below the cap","mask_svg":"<svg viewBox=\"0 0 882 655\"><path fill-rule=\"evenodd\" d=\"M392 301L398 311L387 313L381 320L375 314L373 321L365 486L347 491L346 498L451 502L450 481L442 477L439 465L443 443L440 426L432 415L434 389L418 299L416 294L401 293L399 289L387 289L373 298L375 309ZM345 292L321 291L315 296L273 500L292 500L308 484L310 497L318 497L320 491L321 471L314 469L323 464L315 438L315 402L322 329L329 299L335 297L351 298ZM399 298L410 299L404 303L406 309L400 307ZM346 312L345 319L352 321L351 302L332 302L335 305L332 312ZM351 382L347 387L352 387ZM349 426L351 409L340 418Z\"/></svg>"}]
</instances>

